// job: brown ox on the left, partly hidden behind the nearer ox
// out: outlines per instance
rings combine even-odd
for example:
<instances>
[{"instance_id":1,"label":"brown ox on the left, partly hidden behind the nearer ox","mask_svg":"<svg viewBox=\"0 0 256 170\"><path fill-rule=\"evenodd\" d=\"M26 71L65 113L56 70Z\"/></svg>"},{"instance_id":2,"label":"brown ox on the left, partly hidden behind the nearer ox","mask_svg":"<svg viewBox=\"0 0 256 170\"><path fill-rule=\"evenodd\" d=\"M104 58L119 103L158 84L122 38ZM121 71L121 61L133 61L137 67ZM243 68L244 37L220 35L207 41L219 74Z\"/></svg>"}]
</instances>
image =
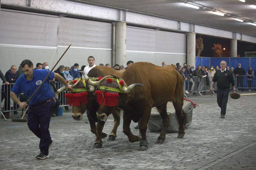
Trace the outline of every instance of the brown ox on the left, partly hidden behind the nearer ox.
<instances>
[{"instance_id":1,"label":"brown ox on the left, partly hidden behind the nearer ox","mask_svg":"<svg viewBox=\"0 0 256 170\"><path fill-rule=\"evenodd\" d=\"M121 76L121 74L124 71L117 71L114 70L113 68L110 67L105 67L105 66L96 66L93 69L91 69L88 73L89 77L93 77L93 78L98 78L98 77L104 77L107 75L115 75L115 76ZM82 72L83 74L83 72ZM86 76L86 75L84 75ZM90 82L91 80L89 78L87 78L87 82ZM73 85L74 86L74 85ZM88 83L86 84L86 87L84 86L83 80L78 81L78 83L75 84L75 86L73 87L74 91L76 91L76 89L81 89L80 92L72 92L74 93L82 93L81 91L88 89L89 92L87 93L87 101L88 103L84 103L83 101L79 101L78 104L76 104L76 106L72 107L72 117L75 120L81 120L83 117L83 114L86 110L87 113L87 118L89 120L90 123L90 127L91 127L91 132L94 133L97 136L97 132L96 132L96 125L95 122L98 122L98 118L96 115L96 112L99 108L99 104L97 103L97 98L96 96L93 94L94 91L94 87L91 87ZM61 92L65 90L65 88L58 90L58 92ZM120 110L118 108L113 109L113 117L114 117L114 127L112 129L111 134L109 135L109 140L114 140L116 138L116 131L117 131L117 127L120 124ZM101 137L105 138L107 137L107 134L105 133L101 133Z\"/></svg>"}]
</instances>

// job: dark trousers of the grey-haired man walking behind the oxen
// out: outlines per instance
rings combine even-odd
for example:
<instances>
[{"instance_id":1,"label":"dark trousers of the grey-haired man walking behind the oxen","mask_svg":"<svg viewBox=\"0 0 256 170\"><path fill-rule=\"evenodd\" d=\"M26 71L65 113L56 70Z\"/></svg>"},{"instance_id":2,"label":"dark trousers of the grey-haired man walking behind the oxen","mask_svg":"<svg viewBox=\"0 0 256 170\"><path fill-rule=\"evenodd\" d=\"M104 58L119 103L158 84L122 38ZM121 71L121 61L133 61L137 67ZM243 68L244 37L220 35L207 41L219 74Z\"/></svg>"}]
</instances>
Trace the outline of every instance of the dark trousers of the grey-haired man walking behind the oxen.
<instances>
[{"instance_id":1,"label":"dark trousers of the grey-haired man walking behind the oxen","mask_svg":"<svg viewBox=\"0 0 256 170\"><path fill-rule=\"evenodd\" d=\"M227 99L229 98L229 88L217 89L217 103L221 108L221 114L226 115Z\"/></svg>"}]
</instances>

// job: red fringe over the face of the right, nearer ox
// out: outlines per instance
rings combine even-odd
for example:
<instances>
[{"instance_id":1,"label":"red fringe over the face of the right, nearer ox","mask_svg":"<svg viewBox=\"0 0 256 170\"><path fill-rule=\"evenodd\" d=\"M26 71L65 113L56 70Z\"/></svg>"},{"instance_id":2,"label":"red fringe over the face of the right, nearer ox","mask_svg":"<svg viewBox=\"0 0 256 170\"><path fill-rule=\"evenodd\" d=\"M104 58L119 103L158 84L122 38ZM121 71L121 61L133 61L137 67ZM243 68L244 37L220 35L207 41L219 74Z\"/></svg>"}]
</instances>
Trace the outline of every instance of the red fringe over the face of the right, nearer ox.
<instances>
[{"instance_id":1,"label":"red fringe over the face of the right, nearer ox","mask_svg":"<svg viewBox=\"0 0 256 170\"><path fill-rule=\"evenodd\" d=\"M118 93L109 93L109 92L103 92L100 90L95 91L97 95L97 102L100 105L103 106L118 106L118 98L119 94Z\"/></svg>"}]
</instances>

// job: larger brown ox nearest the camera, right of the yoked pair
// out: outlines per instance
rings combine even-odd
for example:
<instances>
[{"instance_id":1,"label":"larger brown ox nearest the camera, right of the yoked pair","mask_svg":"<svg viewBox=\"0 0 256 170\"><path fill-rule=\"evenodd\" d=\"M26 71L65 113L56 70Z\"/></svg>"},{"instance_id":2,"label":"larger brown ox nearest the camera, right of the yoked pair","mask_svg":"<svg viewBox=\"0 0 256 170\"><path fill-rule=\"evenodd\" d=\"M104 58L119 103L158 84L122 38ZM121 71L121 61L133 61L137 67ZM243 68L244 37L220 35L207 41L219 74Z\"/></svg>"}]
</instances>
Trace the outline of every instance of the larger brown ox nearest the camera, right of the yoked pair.
<instances>
[{"instance_id":1,"label":"larger brown ox nearest the camera, right of the yoked pair","mask_svg":"<svg viewBox=\"0 0 256 170\"><path fill-rule=\"evenodd\" d=\"M157 139L157 143L165 141L167 127L169 126L169 117L166 112L166 104L172 101L176 111L176 118L179 123L178 138L182 138L185 134L185 114L182 110L183 106L183 82L182 76L173 68L159 67L147 62L138 62L132 64L120 77L127 85L140 83L144 86L133 88L129 94L119 93L118 106L109 107L101 105L97 112L97 116L101 120L105 120L113 109L119 107L124 110L124 133L128 136L130 142L140 141L140 149L146 150L148 141L146 137L147 124L151 114L151 108L157 107L163 119L163 127ZM140 123L140 133L142 139L131 133L131 120ZM104 121L97 124L97 138L94 145L102 146L101 131Z\"/></svg>"}]
</instances>

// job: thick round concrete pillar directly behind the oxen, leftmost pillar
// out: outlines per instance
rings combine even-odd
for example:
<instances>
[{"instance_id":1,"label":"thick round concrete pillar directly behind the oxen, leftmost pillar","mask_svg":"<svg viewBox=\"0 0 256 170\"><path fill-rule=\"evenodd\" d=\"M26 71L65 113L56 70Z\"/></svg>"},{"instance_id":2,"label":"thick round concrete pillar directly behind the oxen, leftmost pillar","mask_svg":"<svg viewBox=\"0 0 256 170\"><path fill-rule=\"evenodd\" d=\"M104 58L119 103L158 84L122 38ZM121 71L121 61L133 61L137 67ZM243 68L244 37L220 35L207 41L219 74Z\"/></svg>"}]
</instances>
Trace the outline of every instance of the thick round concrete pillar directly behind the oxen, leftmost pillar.
<instances>
[{"instance_id":1,"label":"thick round concrete pillar directly behind the oxen, leftmost pillar","mask_svg":"<svg viewBox=\"0 0 256 170\"><path fill-rule=\"evenodd\" d=\"M126 22L116 23L116 60L120 66L126 64Z\"/></svg>"}]
</instances>

